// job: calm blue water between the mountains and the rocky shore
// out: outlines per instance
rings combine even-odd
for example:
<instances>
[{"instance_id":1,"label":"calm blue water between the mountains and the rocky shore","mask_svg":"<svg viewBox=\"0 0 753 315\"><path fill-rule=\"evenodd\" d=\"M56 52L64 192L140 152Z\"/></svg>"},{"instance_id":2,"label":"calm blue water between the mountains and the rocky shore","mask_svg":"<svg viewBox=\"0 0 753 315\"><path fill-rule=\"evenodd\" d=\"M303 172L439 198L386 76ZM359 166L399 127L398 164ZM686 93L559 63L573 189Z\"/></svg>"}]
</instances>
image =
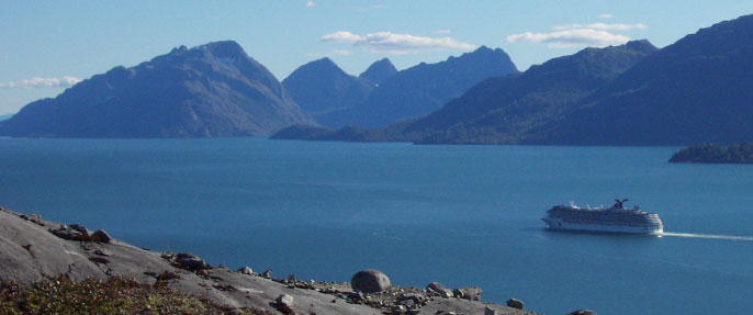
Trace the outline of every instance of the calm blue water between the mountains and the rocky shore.
<instances>
[{"instance_id":1,"label":"calm blue water between the mountains and the rocky shore","mask_svg":"<svg viewBox=\"0 0 753 315\"><path fill-rule=\"evenodd\" d=\"M376 268L547 314L748 314L753 241L542 229L554 204L627 196L667 232L753 236L753 166L674 150L0 138L0 204L276 277Z\"/></svg>"}]
</instances>

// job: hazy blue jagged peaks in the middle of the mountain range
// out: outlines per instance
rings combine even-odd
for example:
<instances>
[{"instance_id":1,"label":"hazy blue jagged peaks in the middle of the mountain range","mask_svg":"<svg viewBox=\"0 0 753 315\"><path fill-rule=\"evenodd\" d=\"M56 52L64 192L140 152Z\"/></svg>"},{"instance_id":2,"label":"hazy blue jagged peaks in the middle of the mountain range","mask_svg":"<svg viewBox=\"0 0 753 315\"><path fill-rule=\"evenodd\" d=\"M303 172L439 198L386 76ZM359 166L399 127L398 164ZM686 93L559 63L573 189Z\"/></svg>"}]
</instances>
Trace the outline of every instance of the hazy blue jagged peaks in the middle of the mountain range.
<instances>
[{"instance_id":1,"label":"hazy blue jagged peaks in the middle of the mountain range","mask_svg":"<svg viewBox=\"0 0 753 315\"><path fill-rule=\"evenodd\" d=\"M401 71L384 58L358 77L323 58L301 66L282 83L324 126L383 127L429 114L484 79L514 72L517 68L504 50L482 46Z\"/></svg>"}]
</instances>

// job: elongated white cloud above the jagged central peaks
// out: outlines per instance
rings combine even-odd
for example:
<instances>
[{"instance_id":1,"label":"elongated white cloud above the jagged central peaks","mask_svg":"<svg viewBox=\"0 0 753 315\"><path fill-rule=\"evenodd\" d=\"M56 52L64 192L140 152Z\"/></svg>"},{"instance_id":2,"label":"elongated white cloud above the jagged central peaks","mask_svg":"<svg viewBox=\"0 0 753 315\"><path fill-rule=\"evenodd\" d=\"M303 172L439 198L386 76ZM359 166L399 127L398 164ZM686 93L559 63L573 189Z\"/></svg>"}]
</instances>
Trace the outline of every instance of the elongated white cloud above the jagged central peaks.
<instances>
[{"instance_id":1,"label":"elongated white cloud above the jagged central peaks","mask_svg":"<svg viewBox=\"0 0 753 315\"><path fill-rule=\"evenodd\" d=\"M458 42L450 37L426 37L411 34L395 34L392 32L369 33L364 36L350 32L336 32L324 35L322 42L340 42L362 47L379 54L415 54L425 50L459 49L471 50L475 45Z\"/></svg>"}]
</instances>

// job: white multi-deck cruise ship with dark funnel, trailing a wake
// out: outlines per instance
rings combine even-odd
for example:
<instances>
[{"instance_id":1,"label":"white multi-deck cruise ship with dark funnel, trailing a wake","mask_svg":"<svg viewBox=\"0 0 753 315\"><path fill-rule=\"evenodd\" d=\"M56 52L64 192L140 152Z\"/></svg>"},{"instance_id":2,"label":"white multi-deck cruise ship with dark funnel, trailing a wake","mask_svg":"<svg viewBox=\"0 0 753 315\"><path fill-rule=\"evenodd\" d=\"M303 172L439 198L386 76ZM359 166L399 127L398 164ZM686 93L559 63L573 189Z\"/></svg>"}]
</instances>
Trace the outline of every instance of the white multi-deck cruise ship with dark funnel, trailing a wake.
<instances>
[{"instance_id":1,"label":"white multi-deck cruise ship with dark funnel, trailing a wake","mask_svg":"<svg viewBox=\"0 0 753 315\"><path fill-rule=\"evenodd\" d=\"M555 205L542 217L550 229L618 233L618 234L662 234L664 226L655 213L642 211L640 206L626 209L627 199L615 200L610 207L589 209L570 205Z\"/></svg>"}]
</instances>

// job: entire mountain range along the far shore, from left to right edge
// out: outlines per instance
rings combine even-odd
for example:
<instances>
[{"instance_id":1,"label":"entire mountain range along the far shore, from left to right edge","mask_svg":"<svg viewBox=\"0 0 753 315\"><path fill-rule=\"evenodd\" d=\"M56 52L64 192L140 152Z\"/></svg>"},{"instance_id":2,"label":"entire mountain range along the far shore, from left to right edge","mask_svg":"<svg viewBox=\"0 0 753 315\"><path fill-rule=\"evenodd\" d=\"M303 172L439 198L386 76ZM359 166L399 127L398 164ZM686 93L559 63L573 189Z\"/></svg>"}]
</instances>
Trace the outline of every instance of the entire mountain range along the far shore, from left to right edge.
<instances>
[{"instance_id":1,"label":"entire mountain range along the far shore, from left to right edge","mask_svg":"<svg viewBox=\"0 0 753 315\"><path fill-rule=\"evenodd\" d=\"M525 72L482 46L401 71L384 58L358 77L323 58L280 83L226 41L95 75L0 121L0 136L729 144L753 139L751 69L753 15L661 49L585 48Z\"/></svg>"}]
</instances>

